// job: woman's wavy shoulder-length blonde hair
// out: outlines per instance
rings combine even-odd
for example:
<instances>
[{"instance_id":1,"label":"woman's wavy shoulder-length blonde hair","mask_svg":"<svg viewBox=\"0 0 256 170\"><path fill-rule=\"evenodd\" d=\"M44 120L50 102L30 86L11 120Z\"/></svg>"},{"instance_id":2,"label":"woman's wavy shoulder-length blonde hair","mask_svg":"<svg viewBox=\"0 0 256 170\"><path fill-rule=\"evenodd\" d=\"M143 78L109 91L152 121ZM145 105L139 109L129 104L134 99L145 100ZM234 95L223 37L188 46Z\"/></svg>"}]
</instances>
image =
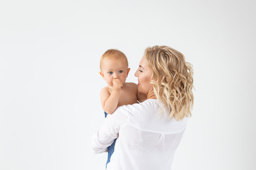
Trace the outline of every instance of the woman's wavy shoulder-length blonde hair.
<instances>
[{"instance_id":1,"label":"woman's wavy shoulder-length blonde hair","mask_svg":"<svg viewBox=\"0 0 256 170\"><path fill-rule=\"evenodd\" d=\"M164 108L169 108L169 118L181 120L191 116L193 107L193 68L185 62L181 52L167 46L148 47L144 56L153 70L151 84Z\"/></svg>"}]
</instances>

